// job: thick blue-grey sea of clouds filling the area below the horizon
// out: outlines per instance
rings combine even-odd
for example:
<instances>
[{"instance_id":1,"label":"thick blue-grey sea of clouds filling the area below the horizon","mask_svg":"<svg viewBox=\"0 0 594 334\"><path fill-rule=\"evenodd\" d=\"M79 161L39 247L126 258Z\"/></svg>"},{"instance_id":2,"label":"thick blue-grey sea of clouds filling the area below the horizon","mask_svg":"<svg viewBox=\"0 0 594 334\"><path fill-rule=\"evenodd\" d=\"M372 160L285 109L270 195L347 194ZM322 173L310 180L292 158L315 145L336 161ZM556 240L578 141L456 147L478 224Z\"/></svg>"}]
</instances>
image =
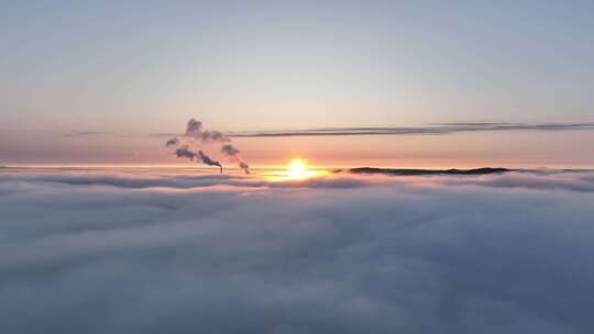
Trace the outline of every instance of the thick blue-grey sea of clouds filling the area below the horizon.
<instances>
[{"instance_id":1,"label":"thick blue-grey sea of clouds filling the area below the horizon","mask_svg":"<svg viewBox=\"0 0 594 334\"><path fill-rule=\"evenodd\" d=\"M594 333L594 174L0 171L1 333Z\"/></svg>"}]
</instances>

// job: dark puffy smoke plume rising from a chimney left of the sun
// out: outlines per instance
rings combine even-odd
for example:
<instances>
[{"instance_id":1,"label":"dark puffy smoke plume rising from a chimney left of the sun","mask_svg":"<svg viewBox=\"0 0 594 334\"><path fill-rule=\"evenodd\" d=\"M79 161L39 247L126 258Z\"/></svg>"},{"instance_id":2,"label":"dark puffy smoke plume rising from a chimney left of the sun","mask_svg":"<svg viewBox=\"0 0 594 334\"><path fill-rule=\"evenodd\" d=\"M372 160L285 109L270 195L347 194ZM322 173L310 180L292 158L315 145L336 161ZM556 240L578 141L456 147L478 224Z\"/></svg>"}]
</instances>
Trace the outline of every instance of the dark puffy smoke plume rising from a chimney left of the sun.
<instances>
[{"instance_id":1,"label":"dark puffy smoke plume rising from a chimney left of the sun","mask_svg":"<svg viewBox=\"0 0 594 334\"><path fill-rule=\"evenodd\" d=\"M205 130L202 122L191 119L186 125L186 132L182 136L182 140L178 137L173 137L165 143L165 147L175 148L174 154L178 158L188 158L190 160L197 158L198 162L201 162L208 166L219 166L222 172L222 165L218 160L209 157L202 147L205 145L221 144L221 154L228 160L238 164L238 166L245 174L250 174L250 166L241 158L241 152L232 144L222 144L230 142L231 140L222 132L216 130Z\"/></svg>"}]
</instances>

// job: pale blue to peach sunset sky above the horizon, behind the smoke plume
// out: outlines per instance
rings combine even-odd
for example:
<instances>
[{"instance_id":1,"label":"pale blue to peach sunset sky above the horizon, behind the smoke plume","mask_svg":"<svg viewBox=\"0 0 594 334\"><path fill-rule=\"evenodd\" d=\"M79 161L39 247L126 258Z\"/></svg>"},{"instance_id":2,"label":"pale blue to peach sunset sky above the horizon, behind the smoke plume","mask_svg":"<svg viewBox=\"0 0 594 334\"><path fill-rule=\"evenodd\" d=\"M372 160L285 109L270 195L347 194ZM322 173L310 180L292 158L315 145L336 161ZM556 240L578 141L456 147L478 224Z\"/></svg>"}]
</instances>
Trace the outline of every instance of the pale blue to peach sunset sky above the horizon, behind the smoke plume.
<instances>
[{"instance_id":1,"label":"pale blue to peach sunset sky above the horizon, behind the smoke plume","mask_svg":"<svg viewBox=\"0 0 594 334\"><path fill-rule=\"evenodd\" d=\"M2 1L0 164L157 133L594 121L592 1ZM594 130L234 141L252 164L594 167Z\"/></svg>"}]
</instances>

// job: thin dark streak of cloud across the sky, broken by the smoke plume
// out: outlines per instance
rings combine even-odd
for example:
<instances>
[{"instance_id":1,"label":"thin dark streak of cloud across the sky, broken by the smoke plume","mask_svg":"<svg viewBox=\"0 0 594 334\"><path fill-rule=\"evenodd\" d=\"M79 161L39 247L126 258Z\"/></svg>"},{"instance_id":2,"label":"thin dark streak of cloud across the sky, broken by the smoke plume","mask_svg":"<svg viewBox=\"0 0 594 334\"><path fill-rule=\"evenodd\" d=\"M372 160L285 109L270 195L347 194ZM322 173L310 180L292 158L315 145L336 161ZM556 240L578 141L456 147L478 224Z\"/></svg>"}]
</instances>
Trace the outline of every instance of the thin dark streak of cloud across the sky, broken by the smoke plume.
<instances>
[{"instance_id":1,"label":"thin dark streak of cloud across the sky, broken by the smoke plume","mask_svg":"<svg viewBox=\"0 0 594 334\"><path fill-rule=\"evenodd\" d=\"M421 126L316 127L278 131L226 132L229 137L302 137L302 136L360 136L360 135L447 135L464 132L494 131L587 131L594 123L436 123ZM153 136L172 136L155 133Z\"/></svg>"}]
</instances>

